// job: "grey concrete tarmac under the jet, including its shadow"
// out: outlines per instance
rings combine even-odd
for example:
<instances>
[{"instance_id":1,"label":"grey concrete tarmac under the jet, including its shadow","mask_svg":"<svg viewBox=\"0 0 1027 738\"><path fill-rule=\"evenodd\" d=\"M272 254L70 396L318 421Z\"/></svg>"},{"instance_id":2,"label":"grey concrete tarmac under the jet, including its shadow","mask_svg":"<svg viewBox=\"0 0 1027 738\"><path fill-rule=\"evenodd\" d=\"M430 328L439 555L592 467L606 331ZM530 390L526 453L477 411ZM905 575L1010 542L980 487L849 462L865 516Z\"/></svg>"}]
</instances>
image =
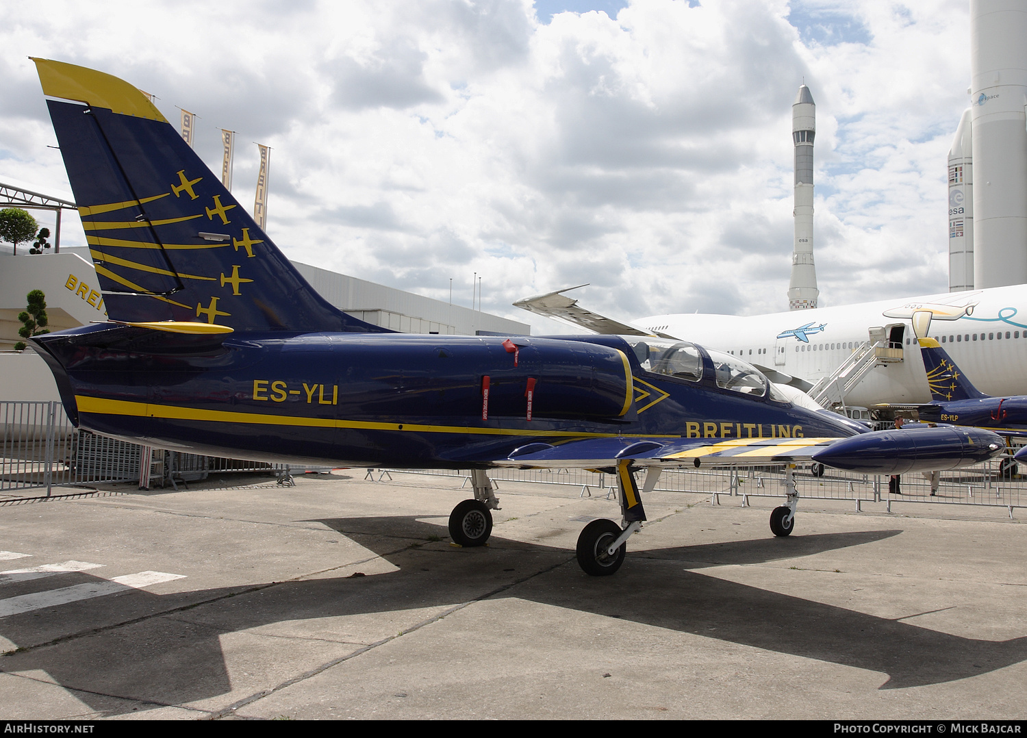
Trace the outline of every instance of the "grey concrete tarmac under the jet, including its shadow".
<instances>
[{"instance_id":1,"label":"grey concrete tarmac under the jet, including its shadow","mask_svg":"<svg viewBox=\"0 0 1027 738\"><path fill-rule=\"evenodd\" d=\"M612 501L503 483L464 549L461 479L363 476L0 505L0 717L1027 712L1027 529L1001 510L800 502L775 539L771 500L653 493L592 578L575 542Z\"/></svg>"}]
</instances>

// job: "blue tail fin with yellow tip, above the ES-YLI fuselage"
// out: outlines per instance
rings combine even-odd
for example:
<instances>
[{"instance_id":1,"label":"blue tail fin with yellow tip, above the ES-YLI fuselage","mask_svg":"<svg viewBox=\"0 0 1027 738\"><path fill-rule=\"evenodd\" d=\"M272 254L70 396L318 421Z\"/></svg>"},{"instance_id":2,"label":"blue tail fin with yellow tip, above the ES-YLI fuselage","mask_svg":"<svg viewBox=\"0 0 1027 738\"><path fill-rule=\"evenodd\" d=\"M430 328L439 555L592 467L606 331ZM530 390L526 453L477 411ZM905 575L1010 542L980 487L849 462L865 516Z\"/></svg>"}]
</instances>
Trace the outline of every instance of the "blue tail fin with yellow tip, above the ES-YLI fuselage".
<instances>
[{"instance_id":1,"label":"blue tail fin with yellow tip, above the ES-YLI fuselage","mask_svg":"<svg viewBox=\"0 0 1027 738\"><path fill-rule=\"evenodd\" d=\"M36 59L112 320L383 332L329 304L127 82Z\"/></svg>"}]
</instances>

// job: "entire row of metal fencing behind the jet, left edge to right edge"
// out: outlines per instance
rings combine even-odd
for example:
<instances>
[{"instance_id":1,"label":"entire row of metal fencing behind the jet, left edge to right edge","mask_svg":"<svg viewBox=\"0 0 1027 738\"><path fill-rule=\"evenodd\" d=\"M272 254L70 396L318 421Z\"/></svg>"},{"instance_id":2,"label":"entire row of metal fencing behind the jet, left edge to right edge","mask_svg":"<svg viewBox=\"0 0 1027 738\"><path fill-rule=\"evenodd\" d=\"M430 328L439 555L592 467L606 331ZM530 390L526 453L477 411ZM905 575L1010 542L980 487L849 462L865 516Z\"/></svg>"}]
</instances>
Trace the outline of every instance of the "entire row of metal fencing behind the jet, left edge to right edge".
<instances>
[{"instance_id":1,"label":"entire row of metal fencing behind the jet, left edge to right edge","mask_svg":"<svg viewBox=\"0 0 1027 738\"><path fill-rule=\"evenodd\" d=\"M0 401L0 493L3 491L137 481L140 478L144 446L74 428L60 402ZM153 450L148 459L151 479L161 485L204 479L232 472L325 471L328 466L287 466L257 461L224 459L196 454ZM382 480L393 473L465 477L457 470L369 469L365 479ZM585 469L491 469L494 481L535 482L576 488L579 494L599 496L612 493L613 477ZM721 496L782 497L784 467L703 467L696 470L667 469L659 477L660 492L700 493L718 502ZM988 462L956 471L942 472L938 492L930 495L930 482L921 474L902 477L902 495L888 493L888 477L850 474L828 469L816 476L808 468L795 474L801 498L849 501L855 509L863 502L930 502L1006 508L1012 517L1016 508L1027 506L1027 474L1003 472L998 462ZM640 478L640 481L641 478Z\"/></svg>"}]
</instances>

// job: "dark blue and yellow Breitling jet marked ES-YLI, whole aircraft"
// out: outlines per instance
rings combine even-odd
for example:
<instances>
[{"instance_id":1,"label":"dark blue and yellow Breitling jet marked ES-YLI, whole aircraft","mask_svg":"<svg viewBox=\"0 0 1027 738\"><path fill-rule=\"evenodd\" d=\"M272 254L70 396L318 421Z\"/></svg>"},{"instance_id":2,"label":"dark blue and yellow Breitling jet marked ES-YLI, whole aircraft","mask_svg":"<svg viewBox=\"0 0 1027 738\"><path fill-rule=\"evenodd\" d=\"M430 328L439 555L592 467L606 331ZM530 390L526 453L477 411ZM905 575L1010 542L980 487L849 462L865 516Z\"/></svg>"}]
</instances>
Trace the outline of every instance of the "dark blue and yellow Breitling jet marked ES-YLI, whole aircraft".
<instances>
[{"instance_id":1,"label":"dark blue and yellow Breitling jet marked ES-YLI, whole aircraft","mask_svg":"<svg viewBox=\"0 0 1027 738\"><path fill-rule=\"evenodd\" d=\"M33 339L80 428L231 458L471 469L474 499L450 516L464 546L492 530L488 468L603 469L618 477L623 522L582 531L592 575L620 567L665 466L785 465L788 504L770 522L787 536L796 463L891 474L1001 452L973 428L862 434L687 342L417 336L357 320L307 284L142 92L34 61L60 99L47 106L109 318Z\"/></svg>"}]
</instances>

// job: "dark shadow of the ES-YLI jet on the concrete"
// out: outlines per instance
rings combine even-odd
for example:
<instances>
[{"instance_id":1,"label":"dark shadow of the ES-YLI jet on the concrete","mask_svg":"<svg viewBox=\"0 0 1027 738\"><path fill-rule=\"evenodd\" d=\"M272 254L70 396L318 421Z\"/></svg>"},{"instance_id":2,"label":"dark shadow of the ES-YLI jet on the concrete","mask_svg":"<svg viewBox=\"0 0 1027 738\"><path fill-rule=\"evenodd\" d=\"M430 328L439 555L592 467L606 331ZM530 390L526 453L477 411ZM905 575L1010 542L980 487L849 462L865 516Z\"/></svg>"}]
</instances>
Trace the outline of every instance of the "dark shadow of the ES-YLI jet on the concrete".
<instances>
[{"instance_id":1,"label":"dark shadow of the ES-YLI jet on the concrete","mask_svg":"<svg viewBox=\"0 0 1027 738\"><path fill-rule=\"evenodd\" d=\"M951 682L1027 659L1027 637L991 642L950 635L695 571L837 550L879 541L899 531L640 551L629 553L616 576L591 578L573 562L572 551L496 536L488 549L413 548L412 543L433 540L440 530L413 517L320 522L400 566L400 571L165 595L132 590L87 600L87 607L107 612L142 609L155 615L114 627L87 628L77 637L37 647L31 645L38 643L39 612L6 617L0 619L0 634L30 647L0 658L0 671L43 671L55 684L74 690L92 709L107 714L138 709L139 702L189 704L231 691L221 647L226 633L282 621L417 610L485 596L516 596L879 671L888 674L881 689ZM531 576L539 572L544 573ZM84 573L75 576L81 581L97 579ZM573 586L561 586L559 580ZM194 607L197 601L201 604ZM42 617L62 618L62 608L48 609ZM254 692L271 686L261 684Z\"/></svg>"}]
</instances>

